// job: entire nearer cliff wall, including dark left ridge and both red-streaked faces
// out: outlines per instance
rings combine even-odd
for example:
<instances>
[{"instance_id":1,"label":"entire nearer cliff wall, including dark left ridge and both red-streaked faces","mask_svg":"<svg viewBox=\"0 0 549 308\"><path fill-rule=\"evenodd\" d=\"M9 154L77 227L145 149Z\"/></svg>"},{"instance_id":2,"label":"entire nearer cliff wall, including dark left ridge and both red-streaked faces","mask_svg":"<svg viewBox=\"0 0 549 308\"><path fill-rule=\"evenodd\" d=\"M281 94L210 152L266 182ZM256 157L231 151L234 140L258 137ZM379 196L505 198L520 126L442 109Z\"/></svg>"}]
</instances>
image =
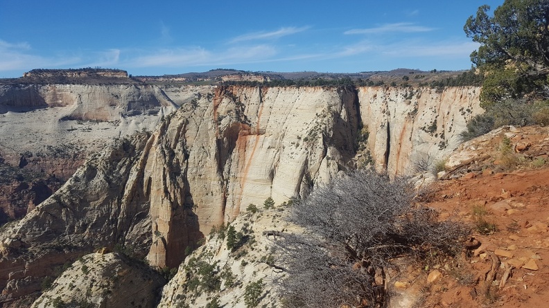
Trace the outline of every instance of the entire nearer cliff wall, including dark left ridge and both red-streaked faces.
<instances>
[{"instance_id":1,"label":"entire nearer cliff wall, including dark left ridge and both red-streaked faces","mask_svg":"<svg viewBox=\"0 0 549 308\"><path fill-rule=\"evenodd\" d=\"M480 111L478 92L235 86L202 88L190 100L180 92L180 109L148 140L141 134L92 156L1 231L0 302L37 291L51 275L44 268L98 246L131 244L151 265L175 267L187 246L250 203L304 197L356 167L361 127L376 165L390 174L408 172L417 158L441 158ZM62 105L55 93L46 101Z\"/></svg>"}]
</instances>

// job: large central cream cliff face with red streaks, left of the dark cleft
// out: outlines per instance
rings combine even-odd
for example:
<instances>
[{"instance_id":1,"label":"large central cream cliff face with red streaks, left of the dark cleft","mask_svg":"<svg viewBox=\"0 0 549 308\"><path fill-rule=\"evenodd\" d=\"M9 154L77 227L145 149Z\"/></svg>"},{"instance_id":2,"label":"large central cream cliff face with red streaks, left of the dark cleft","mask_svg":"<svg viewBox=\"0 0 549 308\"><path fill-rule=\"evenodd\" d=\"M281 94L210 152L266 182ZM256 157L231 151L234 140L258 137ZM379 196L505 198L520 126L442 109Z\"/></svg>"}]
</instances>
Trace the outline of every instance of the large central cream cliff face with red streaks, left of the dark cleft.
<instances>
[{"instance_id":1,"label":"large central cream cliff face with red streaks, left of the dark cleft","mask_svg":"<svg viewBox=\"0 0 549 308\"><path fill-rule=\"evenodd\" d=\"M250 203L286 201L335 176L354 155L356 107L351 89L320 87L220 87L182 105L153 136L145 167L159 235L151 264L179 264L189 240ZM182 218L191 209L195 235Z\"/></svg>"}]
</instances>

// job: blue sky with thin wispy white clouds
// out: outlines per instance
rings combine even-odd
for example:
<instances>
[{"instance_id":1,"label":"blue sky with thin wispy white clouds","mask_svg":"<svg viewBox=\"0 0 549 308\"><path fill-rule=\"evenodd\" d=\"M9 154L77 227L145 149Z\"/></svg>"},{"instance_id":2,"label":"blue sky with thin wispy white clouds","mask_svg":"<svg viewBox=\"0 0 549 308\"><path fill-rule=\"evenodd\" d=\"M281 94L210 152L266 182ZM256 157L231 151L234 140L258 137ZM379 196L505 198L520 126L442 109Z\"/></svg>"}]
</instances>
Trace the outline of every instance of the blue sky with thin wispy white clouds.
<instances>
[{"instance_id":1,"label":"blue sky with thin wispy white clouds","mask_svg":"<svg viewBox=\"0 0 549 308\"><path fill-rule=\"evenodd\" d=\"M0 0L0 78L95 67L133 75L210 69L469 69L463 25L503 0Z\"/></svg>"}]
</instances>

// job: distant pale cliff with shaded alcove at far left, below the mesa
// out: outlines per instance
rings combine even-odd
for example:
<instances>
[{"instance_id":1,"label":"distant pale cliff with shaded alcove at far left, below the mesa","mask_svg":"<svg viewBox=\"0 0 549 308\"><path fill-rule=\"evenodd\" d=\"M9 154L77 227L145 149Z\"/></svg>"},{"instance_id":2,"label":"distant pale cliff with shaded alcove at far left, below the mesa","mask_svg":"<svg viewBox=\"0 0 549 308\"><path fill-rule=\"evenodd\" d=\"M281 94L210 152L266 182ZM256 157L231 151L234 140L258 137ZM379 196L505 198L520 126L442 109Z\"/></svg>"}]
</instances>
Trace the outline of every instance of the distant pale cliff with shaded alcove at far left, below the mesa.
<instances>
[{"instance_id":1,"label":"distant pale cliff with shaded alcove at far left, below the mesa","mask_svg":"<svg viewBox=\"0 0 549 308\"><path fill-rule=\"evenodd\" d=\"M87 154L112 138L152 131L175 109L156 86L0 85L0 223L21 218L27 212L23 203L36 205L28 202L35 197L24 195L28 190L12 195L8 186L66 181Z\"/></svg>"}]
</instances>

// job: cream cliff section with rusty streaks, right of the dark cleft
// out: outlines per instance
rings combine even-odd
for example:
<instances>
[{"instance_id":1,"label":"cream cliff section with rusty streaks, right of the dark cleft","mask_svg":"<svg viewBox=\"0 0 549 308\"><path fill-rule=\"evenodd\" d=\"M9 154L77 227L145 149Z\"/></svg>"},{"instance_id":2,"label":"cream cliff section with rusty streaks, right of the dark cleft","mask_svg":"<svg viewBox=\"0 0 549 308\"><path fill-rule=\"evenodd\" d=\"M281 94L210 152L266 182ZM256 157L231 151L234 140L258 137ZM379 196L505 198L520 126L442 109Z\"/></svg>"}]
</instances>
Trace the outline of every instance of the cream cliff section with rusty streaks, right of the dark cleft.
<instances>
[{"instance_id":1,"label":"cream cliff section with rusty streaks, right of the dark cleft","mask_svg":"<svg viewBox=\"0 0 549 308\"><path fill-rule=\"evenodd\" d=\"M358 89L360 117L369 131L376 167L410 174L421 159L433 163L460 143L467 120L482 109L478 87L363 87Z\"/></svg>"}]
</instances>

